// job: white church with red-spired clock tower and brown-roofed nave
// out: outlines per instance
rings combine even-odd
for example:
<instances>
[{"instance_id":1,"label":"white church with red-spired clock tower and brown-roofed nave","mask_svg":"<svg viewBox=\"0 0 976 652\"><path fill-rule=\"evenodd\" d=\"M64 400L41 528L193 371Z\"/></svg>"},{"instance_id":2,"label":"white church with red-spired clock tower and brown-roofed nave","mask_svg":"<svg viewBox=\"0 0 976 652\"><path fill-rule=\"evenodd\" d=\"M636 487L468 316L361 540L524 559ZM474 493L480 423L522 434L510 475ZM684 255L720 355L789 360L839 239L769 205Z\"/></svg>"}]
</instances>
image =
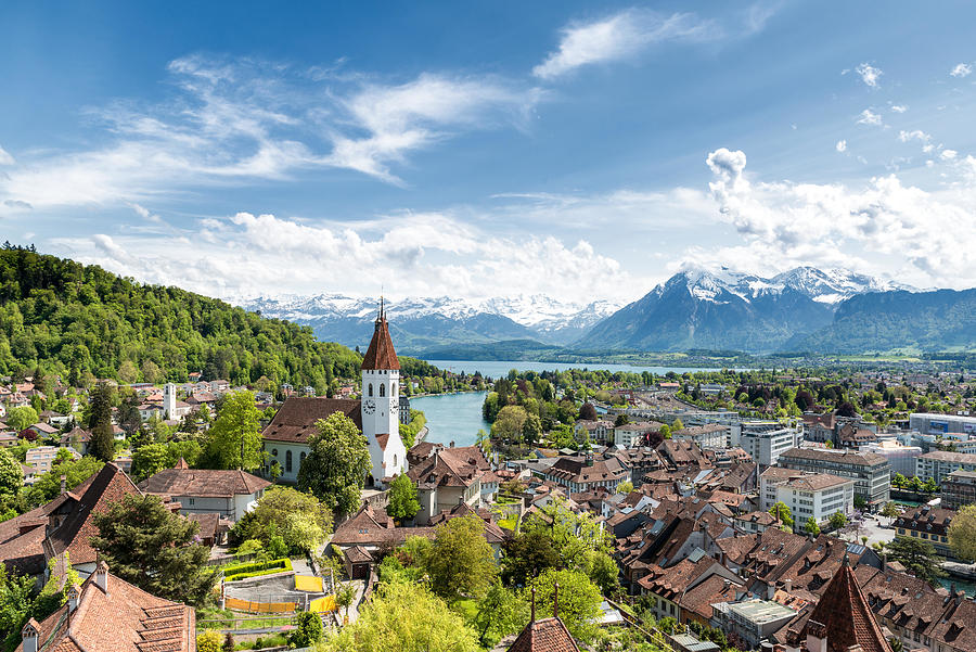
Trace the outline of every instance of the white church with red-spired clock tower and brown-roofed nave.
<instances>
[{"instance_id":1,"label":"white church with red-spired clock tower and brown-roofed nave","mask_svg":"<svg viewBox=\"0 0 976 652\"><path fill-rule=\"evenodd\" d=\"M360 375L360 400L292 397L284 401L261 433L268 453L266 466L277 461L282 470L280 480L292 483L298 480L298 469L309 451L308 438L317 432L316 422L333 412L349 417L367 439L372 463L367 487L385 488L394 476L407 471L407 449L399 427L400 361L382 302Z\"/></svg>"}]
</instances>

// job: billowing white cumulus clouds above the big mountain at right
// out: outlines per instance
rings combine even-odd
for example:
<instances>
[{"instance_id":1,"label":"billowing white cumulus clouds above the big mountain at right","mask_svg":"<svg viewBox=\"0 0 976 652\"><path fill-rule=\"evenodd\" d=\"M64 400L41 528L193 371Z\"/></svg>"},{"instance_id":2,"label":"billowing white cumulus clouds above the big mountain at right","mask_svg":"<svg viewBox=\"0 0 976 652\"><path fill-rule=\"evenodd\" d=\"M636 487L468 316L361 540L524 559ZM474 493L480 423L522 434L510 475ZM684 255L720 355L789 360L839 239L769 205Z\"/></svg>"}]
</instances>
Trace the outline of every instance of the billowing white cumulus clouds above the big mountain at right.
<instances>
[{"instance_id":1,"label":"billowing white cumulus clouds above the big mountain at right","mask_svg":"<svg viewBox=\"0 0 976 652\"><path fill-rule=\"evenodd\" d=\"M969 286L976 279L976 261L958 255L976 246L972 184L930 193L902 184L896 175L875 177L860 189L753 183L741 151L717 150L706 163L720 214L746 240L711 254L727 256L721 259L733 268L761 261L780 269L800 264L877 269L888 258L910 266L904 270L909 282ZM857 264L845 265L852 254Z\"/></svg>"}]
</instances>

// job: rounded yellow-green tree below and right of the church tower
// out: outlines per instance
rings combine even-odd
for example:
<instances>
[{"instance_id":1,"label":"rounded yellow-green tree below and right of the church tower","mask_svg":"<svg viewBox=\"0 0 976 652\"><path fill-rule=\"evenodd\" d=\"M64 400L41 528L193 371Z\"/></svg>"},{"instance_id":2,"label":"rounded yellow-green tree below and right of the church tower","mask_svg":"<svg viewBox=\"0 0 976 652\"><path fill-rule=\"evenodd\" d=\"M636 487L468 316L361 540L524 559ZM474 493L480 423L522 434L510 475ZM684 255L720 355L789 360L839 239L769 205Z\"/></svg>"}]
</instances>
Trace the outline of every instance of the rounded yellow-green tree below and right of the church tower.
<instances>
[{"instance_id":1,"label":"rounded yellow-green tree below and right of the church tower","mask_svg":"<svg viewBox=\"0 0 976 652\"><path fill-rule=\"evenodd\" d=\"M475 515L458 516L437 526L423 566L431 588L442 598L481 597L498 574L495 551L485 540L485 524Z\"/></svg>"}]
</instances>

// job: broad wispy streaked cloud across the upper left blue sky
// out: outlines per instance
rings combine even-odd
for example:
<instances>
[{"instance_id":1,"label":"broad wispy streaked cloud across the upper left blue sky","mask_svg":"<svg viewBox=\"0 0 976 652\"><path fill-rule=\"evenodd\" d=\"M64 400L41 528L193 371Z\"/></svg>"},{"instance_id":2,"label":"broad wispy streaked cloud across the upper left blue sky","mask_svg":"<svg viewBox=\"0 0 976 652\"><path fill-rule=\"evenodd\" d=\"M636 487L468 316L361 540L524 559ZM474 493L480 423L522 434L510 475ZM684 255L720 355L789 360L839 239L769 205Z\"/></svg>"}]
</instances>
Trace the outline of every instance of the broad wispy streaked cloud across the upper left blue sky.
<instances>
[{"instance_id":1,"label":"broad wispy streaked cloud across the upper left blue sky","mask_svg":"<svg viewBox=\"0 0 976 652\"><path fill-rule=\"evenodd\" d=\"M158 104L89 110L106 126L101 146L25 155L16 165L0 154L13 165L0 176L0 201L40 209L146 203L328 168L401 183L391 166L412 153L461 131L524 128L542 97L493 77L422 74L382 85L201 55L168 71L176 90Z\"/></svg>"}]
</instances>

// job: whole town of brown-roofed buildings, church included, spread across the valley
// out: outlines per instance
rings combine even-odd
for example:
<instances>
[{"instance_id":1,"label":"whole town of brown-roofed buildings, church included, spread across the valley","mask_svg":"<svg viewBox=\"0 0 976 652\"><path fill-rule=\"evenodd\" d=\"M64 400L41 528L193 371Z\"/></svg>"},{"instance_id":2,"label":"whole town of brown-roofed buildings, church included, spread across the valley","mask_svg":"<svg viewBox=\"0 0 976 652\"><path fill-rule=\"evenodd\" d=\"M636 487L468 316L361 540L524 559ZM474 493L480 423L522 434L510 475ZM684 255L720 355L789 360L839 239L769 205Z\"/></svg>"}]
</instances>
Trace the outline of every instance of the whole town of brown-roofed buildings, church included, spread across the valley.
<instances>
[{"instance_id":1,"label":"whole town of brown-roofed buildings, church included, spread across the valley","mask_svg":"<svg viewBox=\"0 0 976 652\"><path fill-rule=\"evenodd\" d=\"M429 442L426 430L408 448L400 426L412 414L399 372L381 310L358 385L342 385L333 397L283 385L282 400L255 392L264 462L253 472L195 469L180 459L134 482L127 447L132 433L114 423L114 460L74 487L62 475L53 500L0 522L0 561L9 572L38 586L52 575L69 577L68 570L77 578L62 587L63 605L27 622L16 649L130 649L119 641L142 641L140 650L197 649L205 627L193 609L137 589L100 559L91 542L97 514L127 495L156 496L198 525L213 564L246 562L233 557L229 533L266 493L298 482L317 423L342 413L365 439L369 472L358 509L336 521L319 546L334 565L328 570L314 554L285 560L287 567L272 568L280 572L244 579L246 590L224 571L216 588L222 609L255 614L286 604L341 629L350 624L349 610L335 602L342 581L355 583L355 613L370 600L384 559L408 539L436 540L446 524L467 519L503 560L523 524L567 514L595 524L616 564L617 588L601 596L594 622L642 631L656 649L976 652L976 560L950 541L960 510L976 503L971 399L954 413L906 412L878 426L817 406L793 416L778 416L774 402L709 410L684 397L728 397L735 388L659 380L614 389L608 401L588 401L591 418L572 423L573 446L537 444L523 459L503 459L486 443ZM906 380L952 394L971 379ZM879 372L850 380L873 391L891 379ZM191 374L187 383L130 389L139 399L139 427L179 429L190 421L205 431L221 401L247 388ZM42 404L56 409L35 410L36 421L24 423L23 408ZM25 485L64 460L89 456L87 404L85 389L39 388L29 378L0 386L0 446L23 451ZM414 487L418 509L394 519L391 486L401 476ZM906 552L909 547L898 545L903 540L930 546L945 560L937 567L948 579L923 576L909 554L920 548ZM298 588L303 577L314 578L311 590ZM557 604L544 617L535 610L532 602L531 619L492 648L592 649L573 636Z\"/></svg>"}]
</instances>

